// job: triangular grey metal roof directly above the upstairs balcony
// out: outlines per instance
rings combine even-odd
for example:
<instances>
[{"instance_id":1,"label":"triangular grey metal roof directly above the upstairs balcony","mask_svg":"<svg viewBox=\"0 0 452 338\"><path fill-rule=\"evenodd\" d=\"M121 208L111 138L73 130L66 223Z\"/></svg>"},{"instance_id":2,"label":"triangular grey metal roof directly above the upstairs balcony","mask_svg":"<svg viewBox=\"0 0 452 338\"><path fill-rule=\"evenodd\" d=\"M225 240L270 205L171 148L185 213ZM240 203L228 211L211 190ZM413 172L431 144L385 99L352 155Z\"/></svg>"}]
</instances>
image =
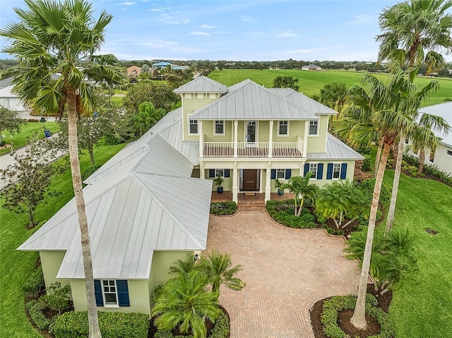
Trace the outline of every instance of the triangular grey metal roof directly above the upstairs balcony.
<instances>
[{"instance_id":1,"label":"triangular grey metal roof directly above the upstairs balcony","mask_svg":"<svg viewBox=\"0 0 452 338\"><path fill-rule=\"evenodd\" d=\"M227 93L196 109L192 119L201 120L300 120L319 119L314 112L297 107L272 90L244 80L227 89Z\"/></svg>"}]
</instances>

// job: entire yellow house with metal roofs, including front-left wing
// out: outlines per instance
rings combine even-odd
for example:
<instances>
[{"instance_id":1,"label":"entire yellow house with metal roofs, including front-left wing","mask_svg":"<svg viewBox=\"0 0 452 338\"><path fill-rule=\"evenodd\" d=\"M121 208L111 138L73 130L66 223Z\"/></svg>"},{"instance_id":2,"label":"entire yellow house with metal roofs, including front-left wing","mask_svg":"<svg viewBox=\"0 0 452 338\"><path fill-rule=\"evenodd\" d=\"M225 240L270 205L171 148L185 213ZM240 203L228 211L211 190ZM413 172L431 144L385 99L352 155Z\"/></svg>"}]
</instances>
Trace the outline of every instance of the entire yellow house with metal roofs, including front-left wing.
<instances>
[{"instance_id":1,"label":"entire yellow house with metal roofs, including front-left wing","mask_svg":"<svg viewBox=\"0 0 452 338\"><path fill-rule=\"evenodd\" d=\"M200 77L175 92L181 108L85 180L98 310L150 314L174 261L206 249L217 174L234 200L246 191L268 200L275 179L352 179L362 159L328 133L335 111L294 90ZM70 284L75 310L86 310L75 200L18 249L39 251L46 286Z\"/></svg>"}]
</instances>

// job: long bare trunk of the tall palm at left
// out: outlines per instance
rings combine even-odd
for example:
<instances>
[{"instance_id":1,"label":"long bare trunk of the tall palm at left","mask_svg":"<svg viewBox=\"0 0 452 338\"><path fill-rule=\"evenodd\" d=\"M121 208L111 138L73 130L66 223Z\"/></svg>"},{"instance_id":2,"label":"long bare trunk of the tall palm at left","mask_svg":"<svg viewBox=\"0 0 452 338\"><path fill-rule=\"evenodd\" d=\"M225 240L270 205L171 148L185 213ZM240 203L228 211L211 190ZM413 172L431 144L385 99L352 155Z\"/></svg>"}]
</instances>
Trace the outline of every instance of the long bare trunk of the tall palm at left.
<instances>
[{"instance_id":1,"label":"long bare trunk of the tall palm at left","mask_svg":"<svg viewBox=\"0 0 452 338\"><path fill-rule=\"evenodd\" d=\"M71 173L73 192L76 198L78 212L78 225L81 234L83 255L83 268L85 272L85 289L88 306L89 338L102 338L97 318L97 307L94 296L93 260L91 258L90 234L88 232L88 219L85 212L85 199L83 198L82 177L80 161L78 160L78 138L76 117L76 91L68 90L68 124L69 124L69 158L71 159Z\"/></svg>"}]
</instances>

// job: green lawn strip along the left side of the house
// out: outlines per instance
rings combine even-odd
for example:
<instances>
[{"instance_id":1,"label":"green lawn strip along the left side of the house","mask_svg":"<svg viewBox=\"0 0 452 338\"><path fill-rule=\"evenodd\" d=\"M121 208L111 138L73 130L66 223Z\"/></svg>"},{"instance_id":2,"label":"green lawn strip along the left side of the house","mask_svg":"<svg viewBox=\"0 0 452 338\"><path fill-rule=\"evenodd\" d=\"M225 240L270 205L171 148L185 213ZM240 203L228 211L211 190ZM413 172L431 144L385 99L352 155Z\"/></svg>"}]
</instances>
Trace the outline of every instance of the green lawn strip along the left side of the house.
<instances>
[{"instance_id":1,"label":"green lawn strip along the left side of the house","mask_svg":"<svg viewBox=\"0 0 452 338\"><path fill-rule=\"evenodd\" d=\"M104 164L122 147L124 144L96 147L97 163ZM59 159L59 161L64 160ZM81 157L82 171L89 166L89 155L83 155ZM52 190L60 191L62 195L57 198L49 198L46 204L37 207L35 217L37 221L49 219L73 197L70 169L54 178ZM3 200L0 200L0 204L3 204ZM28 239L35 229L25 230L28 223L27 215L16 215L4 208L0 208L0 220L0 337L39 338L40 334L33 330L25 316L22 291L25 279L35 269L38 253L16 251L16 248Z\"/></svg>"}]
</instances>

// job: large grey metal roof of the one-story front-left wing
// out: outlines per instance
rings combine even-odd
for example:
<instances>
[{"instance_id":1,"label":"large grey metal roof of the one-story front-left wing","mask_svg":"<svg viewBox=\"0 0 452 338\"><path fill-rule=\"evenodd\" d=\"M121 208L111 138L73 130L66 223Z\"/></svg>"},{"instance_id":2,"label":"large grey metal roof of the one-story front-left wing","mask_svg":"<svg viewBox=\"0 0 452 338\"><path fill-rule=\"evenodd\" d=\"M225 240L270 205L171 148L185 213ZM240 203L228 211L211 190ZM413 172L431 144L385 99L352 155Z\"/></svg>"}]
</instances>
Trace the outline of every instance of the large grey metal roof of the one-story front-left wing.
<instances>
[{"instance_id":1,"label":"large grey metal roof of the one-story front-left wing","mask_svg":"<svg viewBox=\"0 0 452 338\"><path fill-rule=\"evenodd\" d=\"M192 179L193 165L162 135L148 132L86 180L95 278L147 279L153 251L206 248L212 181ZM83 278L80 242L72 199L19 249L66 251L57 278Z\"/></svg>"}]
</instances>

